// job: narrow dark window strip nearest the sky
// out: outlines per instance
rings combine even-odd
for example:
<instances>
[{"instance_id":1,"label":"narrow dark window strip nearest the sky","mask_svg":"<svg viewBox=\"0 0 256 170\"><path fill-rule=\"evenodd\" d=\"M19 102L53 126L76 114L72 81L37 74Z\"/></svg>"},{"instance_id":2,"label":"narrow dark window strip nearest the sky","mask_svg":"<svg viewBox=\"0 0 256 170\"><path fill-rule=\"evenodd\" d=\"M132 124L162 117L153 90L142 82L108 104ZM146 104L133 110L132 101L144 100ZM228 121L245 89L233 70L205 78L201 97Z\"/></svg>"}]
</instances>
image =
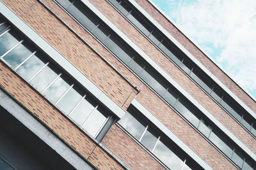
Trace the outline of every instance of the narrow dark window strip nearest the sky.
<instances>
[{"instance_id":1,"label":"narrow dark window strip nearest the sky","mask_svg":"<svg viewBox=\"0 0 256 170\"><path fill-rule=\"evenodd\" d=\"M230 97L220 85L211 79L188 56L182 53L154 24L124 0L108 0L132 24L134 24L154 45L192 78L202 89L219 103L247 131L256 137L256 120L240 104Z\"/></svg>"}]
</instances>

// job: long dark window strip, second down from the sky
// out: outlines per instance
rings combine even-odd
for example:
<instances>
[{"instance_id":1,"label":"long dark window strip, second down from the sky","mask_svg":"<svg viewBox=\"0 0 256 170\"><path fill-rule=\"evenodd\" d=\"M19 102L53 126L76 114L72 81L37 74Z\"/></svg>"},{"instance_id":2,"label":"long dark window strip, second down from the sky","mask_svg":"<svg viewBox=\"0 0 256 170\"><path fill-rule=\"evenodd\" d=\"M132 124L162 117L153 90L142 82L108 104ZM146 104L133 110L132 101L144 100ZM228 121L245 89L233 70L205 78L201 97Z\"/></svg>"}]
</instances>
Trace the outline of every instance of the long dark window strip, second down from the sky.
<instances>
[{"instance_id":1,"label":"long dark window strip, second down from the sky","mask_svg":"<svg viewBox=\"0 0 256 170\"><path fill-rule=\"evenodd\" d=\"M89 32L93 34L99 41L104 44L116 57L118 57L124 64L126 64L134 73L136 73L143 81L145 81L152 89L163 97L175 110L177 110L182 117L186 118L198 131L200 131L205 138L209 139L221 152L232 160L237 166L243 168L245 164L255 162L248 156L239 146L234 143L220 128L214 125L209 118L205 117L198 108L196 108L186 97L173 87L167 80L161 76L152 66L147 64L147 61L135 52L131 46L127 45L122 38L120 38L115 31L108 25L104 24L97 15L93 13L81 1L65 0L57 1L72 17L82 24ZM205 129L206 128L206 129ZM232 145L222 145L219 143L231 143ZM227 150L227 152L226 152ZM229 150L232 150L232 155L229 156ZM242 155L238 159L232 157L233 153ZM243 165L240 165L240 162ZM244 166L246 167L246 166Z\"/></svg>"}]
</instances>

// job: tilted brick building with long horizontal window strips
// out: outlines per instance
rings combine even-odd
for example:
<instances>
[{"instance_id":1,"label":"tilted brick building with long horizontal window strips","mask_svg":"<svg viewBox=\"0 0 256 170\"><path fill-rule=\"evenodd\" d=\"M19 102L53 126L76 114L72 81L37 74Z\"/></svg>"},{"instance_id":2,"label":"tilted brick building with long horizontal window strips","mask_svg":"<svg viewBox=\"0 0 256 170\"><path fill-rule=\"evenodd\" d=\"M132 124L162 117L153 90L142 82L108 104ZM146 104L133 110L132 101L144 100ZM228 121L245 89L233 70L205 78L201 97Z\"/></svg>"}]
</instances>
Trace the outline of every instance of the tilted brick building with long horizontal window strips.
<instances>
[{"instance_id":1,"label":"tilted brick building with long horizontal window strips","mask_svg":"<svg viewBox=\"0 0 256 170\"><path fill-rule=\"evenodd\" d=\"M150 0L0 1L0 169L256 169L256 102Z\"/></svg>"}]
</instances>

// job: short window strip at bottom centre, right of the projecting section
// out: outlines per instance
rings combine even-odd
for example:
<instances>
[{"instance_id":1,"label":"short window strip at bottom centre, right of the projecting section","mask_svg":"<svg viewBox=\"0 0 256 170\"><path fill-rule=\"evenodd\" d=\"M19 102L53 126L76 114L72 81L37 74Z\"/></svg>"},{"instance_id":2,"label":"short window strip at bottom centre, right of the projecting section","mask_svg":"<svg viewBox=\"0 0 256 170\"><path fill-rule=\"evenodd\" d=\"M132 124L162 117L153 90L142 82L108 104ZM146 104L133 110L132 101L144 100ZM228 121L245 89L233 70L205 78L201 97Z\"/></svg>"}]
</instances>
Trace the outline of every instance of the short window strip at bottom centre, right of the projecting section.
<instances>
[{"instance_id":1,"label":"short window strip at bottom centre, right of the projecting section","mask_svg":"<svg viewBox=\"0 0 256 170\"><path fill-rule=\"evenodd\" d=\"M127 113L118 121L118 124L168 168L204 169L163 132L161 133L147 118L143 117L134 106L129 106Z\"/></svg>"}]
</instances>

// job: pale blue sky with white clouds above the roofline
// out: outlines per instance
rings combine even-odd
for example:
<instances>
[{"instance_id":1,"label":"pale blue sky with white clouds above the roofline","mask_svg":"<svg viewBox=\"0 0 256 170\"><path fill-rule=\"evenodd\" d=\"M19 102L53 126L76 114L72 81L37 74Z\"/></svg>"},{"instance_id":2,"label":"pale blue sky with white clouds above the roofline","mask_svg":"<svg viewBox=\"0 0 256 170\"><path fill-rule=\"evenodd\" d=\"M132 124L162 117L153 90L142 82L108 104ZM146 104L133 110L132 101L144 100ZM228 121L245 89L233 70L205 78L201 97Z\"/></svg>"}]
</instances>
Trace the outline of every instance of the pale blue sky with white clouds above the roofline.
<instances>
[{"instance_id":1,"label":"pale blue sky with white clouds above the roofline","mask_svg":"<svg viewBox=\"0 0 256 170\"><path fill-rule=\"evenodd\" d=\"M255 0L152 0L256 98Z\"/></svg>"}]
</instances>

